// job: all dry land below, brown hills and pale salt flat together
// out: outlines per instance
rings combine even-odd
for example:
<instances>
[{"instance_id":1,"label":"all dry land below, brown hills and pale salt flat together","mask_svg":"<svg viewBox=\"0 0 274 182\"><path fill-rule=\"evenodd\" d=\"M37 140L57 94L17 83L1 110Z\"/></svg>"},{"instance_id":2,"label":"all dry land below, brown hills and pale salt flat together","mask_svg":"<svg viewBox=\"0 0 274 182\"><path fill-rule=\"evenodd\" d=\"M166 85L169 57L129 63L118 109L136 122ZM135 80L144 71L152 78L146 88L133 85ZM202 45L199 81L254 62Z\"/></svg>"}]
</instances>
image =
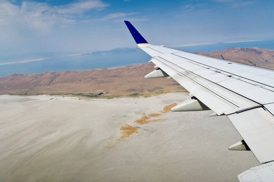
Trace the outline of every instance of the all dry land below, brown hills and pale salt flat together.
<instances>
[{"instance_id":1,"label":"all dry land below, brown hills and pale salt flat together","mask_svg":"<svg viewBox=\"0 0 274 182\"><path fill-rule=\"evenodd\" d=\"M199 54L274 66L270 50ZM226 116L169 112L189 96L162 95L186 90L173 79L145 79L154 69L147 63L0 78L0 181L232 182L259 165L251 151L227 149L242 138ZM160 96L140 97L153 95Z\"/></svg>"}]
</instances>

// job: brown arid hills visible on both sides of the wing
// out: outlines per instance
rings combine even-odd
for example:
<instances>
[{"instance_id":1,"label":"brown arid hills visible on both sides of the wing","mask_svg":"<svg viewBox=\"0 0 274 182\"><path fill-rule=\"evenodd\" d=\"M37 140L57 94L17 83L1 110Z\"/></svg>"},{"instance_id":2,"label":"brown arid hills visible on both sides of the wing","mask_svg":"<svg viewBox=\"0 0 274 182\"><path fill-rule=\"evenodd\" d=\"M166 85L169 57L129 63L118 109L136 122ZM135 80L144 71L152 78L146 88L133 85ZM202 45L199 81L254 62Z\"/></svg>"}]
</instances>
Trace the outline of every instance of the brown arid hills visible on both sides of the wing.
<instances>
[{"instance_id":1,"label":"brown arid hills visible on both sides of the wing","mask_svg":"<svg viewBox=\"0 0 274 182\"><path fill-rule=\"evenodd\" d=\"M196 54L274 69L274 51L258 48L229 48ZM64 95L87 98L151 97L187 91L173 79L145 79L153 63L121 68L12 74L0 78L1 95Z\"/></svg>"}]
</instances>

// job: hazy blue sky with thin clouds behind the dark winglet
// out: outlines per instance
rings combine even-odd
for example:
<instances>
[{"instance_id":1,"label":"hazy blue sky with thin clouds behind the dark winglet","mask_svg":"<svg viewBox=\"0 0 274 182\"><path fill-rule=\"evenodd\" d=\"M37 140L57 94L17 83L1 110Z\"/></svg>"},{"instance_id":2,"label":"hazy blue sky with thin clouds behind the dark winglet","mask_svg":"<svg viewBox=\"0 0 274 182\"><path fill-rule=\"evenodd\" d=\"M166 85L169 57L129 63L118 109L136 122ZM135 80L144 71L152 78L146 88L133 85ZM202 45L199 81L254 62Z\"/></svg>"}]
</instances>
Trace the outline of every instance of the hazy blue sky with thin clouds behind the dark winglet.
<instances>
[{"instance_id":1,"label":"hazy blue sky with thin clouds behind the dark winglet","mask_svg":"<svg viewBox=\"0 0 274 182\"><path fill-rule=\"evenodd\" d=\"M264 0L0 0L0 54L135 47L123 20L169 47L273 39L273 9Z\"/></svg>"}]
</instances>

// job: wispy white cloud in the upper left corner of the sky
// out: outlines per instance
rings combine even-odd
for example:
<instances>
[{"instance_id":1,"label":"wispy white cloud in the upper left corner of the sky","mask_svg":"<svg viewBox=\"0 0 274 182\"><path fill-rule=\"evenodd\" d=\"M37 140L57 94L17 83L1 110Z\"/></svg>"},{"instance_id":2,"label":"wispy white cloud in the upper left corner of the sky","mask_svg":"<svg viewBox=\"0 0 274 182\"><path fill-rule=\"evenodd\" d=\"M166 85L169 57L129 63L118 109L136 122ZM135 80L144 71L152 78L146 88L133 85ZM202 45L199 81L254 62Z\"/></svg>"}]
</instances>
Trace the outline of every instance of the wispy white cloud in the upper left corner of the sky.
<instances>
[{"instance_id":1,"label":"wispy white cloud in the upper left corner of the sky","mask_svg":"<svg viewBox=\"0 0 274 182\"><path fill-rule=\"evenodd\" d=\"M46 3L31 1L16 6L7 0L0 0L0 26L20 26L47 31L52 25L70 25L76 22L79 15L93 9L101 10L109 6L99 0L78 1L64 6L52 7Z\"/></svg>"}]
</instances>

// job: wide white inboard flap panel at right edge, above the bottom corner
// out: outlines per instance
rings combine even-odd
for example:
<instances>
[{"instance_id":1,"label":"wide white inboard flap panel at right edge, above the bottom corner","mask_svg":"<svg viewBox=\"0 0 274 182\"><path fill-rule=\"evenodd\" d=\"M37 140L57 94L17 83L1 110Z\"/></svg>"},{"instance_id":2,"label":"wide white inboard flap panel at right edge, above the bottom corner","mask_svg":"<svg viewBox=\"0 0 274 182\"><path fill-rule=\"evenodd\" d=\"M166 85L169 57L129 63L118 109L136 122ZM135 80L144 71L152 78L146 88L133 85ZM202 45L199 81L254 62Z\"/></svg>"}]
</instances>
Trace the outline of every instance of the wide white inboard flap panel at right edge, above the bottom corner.
<instances>
[{"instance_id":1,"label":"wide white inboard flap panel at right edge, above the bottom corner","mask_svg":"<svg viewBox=\"0 0 274 182\"><path fill-rule=\"evenodd\" d=\"M260 163L274 160L274 116L255 108L227 116Z\"/></svg>"}]
</instances>

